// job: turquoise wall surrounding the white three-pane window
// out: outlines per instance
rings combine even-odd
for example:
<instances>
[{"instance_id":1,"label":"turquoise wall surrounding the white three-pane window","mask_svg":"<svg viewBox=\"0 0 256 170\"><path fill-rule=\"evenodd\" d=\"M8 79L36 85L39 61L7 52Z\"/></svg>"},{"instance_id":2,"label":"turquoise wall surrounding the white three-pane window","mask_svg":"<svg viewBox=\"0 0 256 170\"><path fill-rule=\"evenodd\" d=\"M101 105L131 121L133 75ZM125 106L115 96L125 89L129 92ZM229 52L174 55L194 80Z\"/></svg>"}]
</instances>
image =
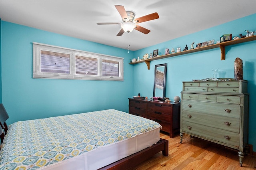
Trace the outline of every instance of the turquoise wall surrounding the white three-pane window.
<instances>
[{"instance_id":1,"label":"turquoise wall surrounding the white three-pane window","mask_svg":"<svg viewBox=\"0 0 256 170\"><path fill-rule=\"evenodd\" d=\"M33 79L32 42L124 57L124 81ZM133 52L2 21L2 103L16 121L103 109L128 112Z\"/></svg>"}]
</instances>

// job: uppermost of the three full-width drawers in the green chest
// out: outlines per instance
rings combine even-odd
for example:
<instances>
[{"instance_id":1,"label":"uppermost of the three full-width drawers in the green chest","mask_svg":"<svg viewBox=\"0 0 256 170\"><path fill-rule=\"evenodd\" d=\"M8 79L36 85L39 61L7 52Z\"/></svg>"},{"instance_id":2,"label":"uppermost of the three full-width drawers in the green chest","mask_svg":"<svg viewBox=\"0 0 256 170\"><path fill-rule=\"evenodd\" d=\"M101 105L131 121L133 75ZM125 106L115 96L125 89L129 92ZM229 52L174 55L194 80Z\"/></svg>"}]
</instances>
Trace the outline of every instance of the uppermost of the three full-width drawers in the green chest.
<instances>
[{"instance_id":1,"label":"uppermost of the three full-width drawers in the green chest","mask_svg":"<svg viewBox=\"0 0 256 170\"><path fill-rule=\"evenodd\" d=\"M240 118L240 105L183 100L182 113L205 113Z\"/></svg>"}]
</instances>

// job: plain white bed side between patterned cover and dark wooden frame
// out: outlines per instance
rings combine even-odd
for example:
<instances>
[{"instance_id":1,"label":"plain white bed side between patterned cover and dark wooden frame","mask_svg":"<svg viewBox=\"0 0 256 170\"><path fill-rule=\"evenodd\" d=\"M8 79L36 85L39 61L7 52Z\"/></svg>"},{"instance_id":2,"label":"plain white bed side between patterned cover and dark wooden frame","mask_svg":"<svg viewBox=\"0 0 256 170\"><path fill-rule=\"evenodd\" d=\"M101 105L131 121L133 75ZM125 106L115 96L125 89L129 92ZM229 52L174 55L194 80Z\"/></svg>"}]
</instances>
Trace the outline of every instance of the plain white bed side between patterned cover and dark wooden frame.
<instances>
[{"instance_id":1,"label":"plain white bed side between patterned cover and dark wooden frame","mask_svg":"<svg viewBox=\"0 0 256 170\"><path fill-rule=\"evenodd\" d=\"M160 127L122 140L62 162L44 166L44 170L97 170L140 150L152 146L160 140Z\"/></svg>"}]
</instances>

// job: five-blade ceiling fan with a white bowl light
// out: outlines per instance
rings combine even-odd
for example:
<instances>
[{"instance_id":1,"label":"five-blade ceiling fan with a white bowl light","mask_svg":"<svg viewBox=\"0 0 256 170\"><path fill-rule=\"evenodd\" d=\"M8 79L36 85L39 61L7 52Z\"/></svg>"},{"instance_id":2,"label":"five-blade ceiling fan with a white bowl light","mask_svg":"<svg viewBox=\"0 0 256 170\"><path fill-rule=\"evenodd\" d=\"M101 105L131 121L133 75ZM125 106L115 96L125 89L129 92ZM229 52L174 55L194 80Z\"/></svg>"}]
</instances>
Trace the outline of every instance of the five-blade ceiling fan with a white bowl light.
<instances>
[{"instance_id":1,"label":"five-blade ceiling fan with a white bowl light","mask_svg":"<svg viewBox=\"0 0 256 170\"><path fill-rule=\"evenodd\" d=\"M137 24L141 23L141 22L146 22L146 21L155 20L155 19L159 18L158 14L156 12L152 13L152 14L148 14L146 16L135 18L134 11L131 11L131 10L126 11L124 9L124 6L122 6L122 5L115 5L115 7L118 10L119 14L121 15L123 23L121 23L121 22L98 22L97 24L98 25L108 25L108 24L121 25L122 29L116 36L122 36L124 34L124 32L127 32L127 33L132 32L133 29L137 30L139 32L142 32L144 34L148 34L150 32L150 30L148 30L142 26L138 26Z\"/></svg>"}]
</instances>

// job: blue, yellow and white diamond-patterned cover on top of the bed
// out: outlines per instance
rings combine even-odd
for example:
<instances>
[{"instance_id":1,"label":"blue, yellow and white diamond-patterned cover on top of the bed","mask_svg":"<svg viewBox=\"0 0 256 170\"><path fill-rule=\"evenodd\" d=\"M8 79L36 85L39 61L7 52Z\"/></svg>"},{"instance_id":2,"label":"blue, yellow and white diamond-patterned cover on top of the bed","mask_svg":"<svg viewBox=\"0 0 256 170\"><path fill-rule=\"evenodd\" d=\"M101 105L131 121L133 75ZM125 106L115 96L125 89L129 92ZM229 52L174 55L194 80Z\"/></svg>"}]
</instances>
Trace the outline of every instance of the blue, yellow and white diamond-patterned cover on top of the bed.
<instances>
[{"instance_id":1,"label":"blue, yellow and white diamond-patterned cover on top of the bed","mask_svg":"<svg viewBox=\"0 0 256 170\"><path fill-rule=\"evenodd\" d=\"M113 109L16 122L0 151L0 169L38 169L161 127Z\"/></svg>"}]
</instances>

